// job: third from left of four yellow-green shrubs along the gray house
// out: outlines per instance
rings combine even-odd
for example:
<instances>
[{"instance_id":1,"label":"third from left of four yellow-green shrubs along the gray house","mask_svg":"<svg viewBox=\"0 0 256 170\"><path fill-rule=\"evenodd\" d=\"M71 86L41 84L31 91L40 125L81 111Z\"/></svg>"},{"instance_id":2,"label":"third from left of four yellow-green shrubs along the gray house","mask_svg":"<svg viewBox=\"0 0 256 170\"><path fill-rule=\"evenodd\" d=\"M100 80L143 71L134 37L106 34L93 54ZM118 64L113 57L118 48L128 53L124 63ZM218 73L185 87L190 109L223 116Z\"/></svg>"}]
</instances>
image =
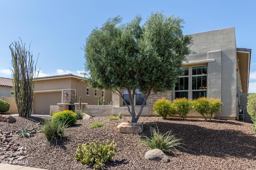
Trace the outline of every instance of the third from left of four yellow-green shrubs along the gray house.
<instances>
[{"instance_id":1,"label":"third from left of four yellow-green shrubs along the gray house","mask_svg":"<svg viewBox=\"0 0 256 170\"><path fill-rule=\"evenodd\" d=\"M191 106L192 110L199 112L207 121L206 116L208 116L210 112L210 102L206 97L192 100Z\"/></svg>"}]
</instances>

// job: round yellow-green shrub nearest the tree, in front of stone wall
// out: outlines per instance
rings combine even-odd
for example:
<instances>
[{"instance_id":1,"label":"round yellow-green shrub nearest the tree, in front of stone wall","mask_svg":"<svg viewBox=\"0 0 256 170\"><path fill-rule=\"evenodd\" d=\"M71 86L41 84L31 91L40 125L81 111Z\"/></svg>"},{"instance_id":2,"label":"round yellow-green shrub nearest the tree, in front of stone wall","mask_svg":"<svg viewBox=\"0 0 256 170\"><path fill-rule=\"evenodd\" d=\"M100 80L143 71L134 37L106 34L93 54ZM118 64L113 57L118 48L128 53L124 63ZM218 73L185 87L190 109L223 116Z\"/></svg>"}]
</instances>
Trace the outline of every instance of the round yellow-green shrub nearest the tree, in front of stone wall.
<instances>
[{"instance_id":1,"label":"round yellow-green shrub nearest the tree, in front of stone wall","mask_svg":"<svg viewBox=\"0 0 256 170\"><path fill-rule=\"evenodd\" d=\"M166 98L156 100L153 109L154 114L161 116L163 119L166 119L167 116L174 115L176 113L175 108Z\"/></svg>"}]
</instances>

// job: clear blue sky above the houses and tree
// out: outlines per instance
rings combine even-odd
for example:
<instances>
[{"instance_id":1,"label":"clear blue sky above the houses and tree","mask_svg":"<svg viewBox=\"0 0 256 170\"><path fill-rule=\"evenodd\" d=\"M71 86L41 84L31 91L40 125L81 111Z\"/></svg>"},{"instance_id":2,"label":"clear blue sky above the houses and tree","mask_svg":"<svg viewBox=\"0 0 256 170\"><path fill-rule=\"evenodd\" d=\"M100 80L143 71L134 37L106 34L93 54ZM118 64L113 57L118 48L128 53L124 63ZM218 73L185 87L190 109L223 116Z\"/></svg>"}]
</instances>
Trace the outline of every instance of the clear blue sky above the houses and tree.
<instances>
[{"instance_id":1,"label":"clear blue sky above the houses and tree","mask_svg":"<svg viewBox=\"0 0 256 170\"><path fill-rule=\"evenodd\" d=\"M137 14L142 23L151 12L184 19L184 34L235 27L236 46L252 49L249 92L256 92L255 0L0 0L0 77L11 78L9 45L19 37L33 58L39 76L84 71L86 37L108 18L123 23ZM255 51L255 52L254 52Z\"/></svg>"}]
</instances>

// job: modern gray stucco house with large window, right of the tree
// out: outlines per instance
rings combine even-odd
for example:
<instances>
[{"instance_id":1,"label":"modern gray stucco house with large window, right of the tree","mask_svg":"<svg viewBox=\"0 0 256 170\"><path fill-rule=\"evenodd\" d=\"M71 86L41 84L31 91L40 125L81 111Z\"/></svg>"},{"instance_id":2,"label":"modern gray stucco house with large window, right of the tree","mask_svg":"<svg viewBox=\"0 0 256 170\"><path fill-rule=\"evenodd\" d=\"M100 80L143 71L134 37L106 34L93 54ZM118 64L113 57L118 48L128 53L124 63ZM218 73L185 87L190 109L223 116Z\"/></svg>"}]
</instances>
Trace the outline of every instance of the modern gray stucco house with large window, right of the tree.
<instances>
[{"instance_id":1,"label":"modern gray stucco house with large window, right of the tree","mask_svg":"<svg viewBox=\"0 0 256 170\"><path fill-rule=\"evenodd\" d=\"M162 97L172 101L175 98L196 99L205 96L219 98L224 103L221 113L216 113L215 118L237 119L241 98L248 93L251 49L236 47L234 27L192 36L194 44L191 50L196 54L189 55L188 63L182 65L175 88L172 92L153 94L146 102L142 116L153 115L153 104ZM123 95L127 95L125 90ZM113 98L113 114L122 111L128 115L122 98L116 94ZM136 106L137 113L139 109L140 102ZM201 115L190 112L188 117Z\"/></svg>"}]
</instances>

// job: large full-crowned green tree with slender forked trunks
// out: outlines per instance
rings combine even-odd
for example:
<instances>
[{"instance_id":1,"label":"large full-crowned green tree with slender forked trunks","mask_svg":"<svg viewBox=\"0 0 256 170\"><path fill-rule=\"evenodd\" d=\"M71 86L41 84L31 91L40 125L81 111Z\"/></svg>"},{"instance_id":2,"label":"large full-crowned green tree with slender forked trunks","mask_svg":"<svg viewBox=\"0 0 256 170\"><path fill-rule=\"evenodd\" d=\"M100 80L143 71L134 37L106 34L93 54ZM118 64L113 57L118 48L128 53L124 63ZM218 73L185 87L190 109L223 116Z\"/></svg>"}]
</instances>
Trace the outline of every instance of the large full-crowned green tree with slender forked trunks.
<instances>
[{"instance_id":1,"label":"large full-crowned green tree with slender forked trunks","mask_svg":"<svg viewBox=\"0 0 256 170\"><path fill-rule=\"evenodd\" d=\"M120 16L96 27L84 46L85 69L89 84L98 89L118 94L137 122L150 94L172 90L180 66L190 50L192 36L182 34L180 18L152 13L140 26L141 16L120 24ZM130 106L122 90L129 95ZM134 95L136 89L144 94L144 101L136 116Z\"/></svg>"}]
</instances>

